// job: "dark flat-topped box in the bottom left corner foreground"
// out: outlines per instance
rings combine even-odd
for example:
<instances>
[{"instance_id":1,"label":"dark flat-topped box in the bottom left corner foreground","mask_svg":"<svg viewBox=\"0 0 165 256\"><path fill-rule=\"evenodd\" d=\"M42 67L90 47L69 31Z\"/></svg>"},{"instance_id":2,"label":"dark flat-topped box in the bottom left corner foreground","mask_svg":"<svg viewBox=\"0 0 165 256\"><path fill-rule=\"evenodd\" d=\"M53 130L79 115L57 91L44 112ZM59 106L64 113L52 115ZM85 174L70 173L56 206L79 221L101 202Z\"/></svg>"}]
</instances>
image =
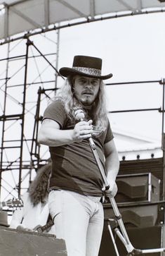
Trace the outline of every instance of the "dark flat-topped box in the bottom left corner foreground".
<instances>
[{"instance_id":1,"label":"dark flat-topped box in the bottom left corner foreground","mask_svg":"<svg viewBox=\"0 0 165 256\"><path fill-rule=\"evenodd\" d=\"M0 256L67 256L65 240L0 226Z\"/></svg>"}]
</instances>

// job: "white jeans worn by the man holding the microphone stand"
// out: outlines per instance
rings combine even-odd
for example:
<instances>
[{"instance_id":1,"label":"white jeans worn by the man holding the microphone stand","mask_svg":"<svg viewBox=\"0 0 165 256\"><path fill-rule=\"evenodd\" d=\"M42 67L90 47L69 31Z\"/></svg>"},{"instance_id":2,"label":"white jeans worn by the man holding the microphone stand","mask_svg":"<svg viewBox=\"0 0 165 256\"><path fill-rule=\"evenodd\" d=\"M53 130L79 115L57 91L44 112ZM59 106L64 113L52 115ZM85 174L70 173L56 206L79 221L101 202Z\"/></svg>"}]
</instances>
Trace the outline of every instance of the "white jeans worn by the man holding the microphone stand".
<instances>
[{"instance_id":1,"label":"white jeans worn by the man holding the microphone stand","mask_svg":"<svg viewBox=\"0 0 165 256\"><path fill-rule=\"evenodd\" d=\"M48 207L55 235L65 240L68 256L98 256L104 221L100 197L52 190Z\"/></svg>"}]
</instances>

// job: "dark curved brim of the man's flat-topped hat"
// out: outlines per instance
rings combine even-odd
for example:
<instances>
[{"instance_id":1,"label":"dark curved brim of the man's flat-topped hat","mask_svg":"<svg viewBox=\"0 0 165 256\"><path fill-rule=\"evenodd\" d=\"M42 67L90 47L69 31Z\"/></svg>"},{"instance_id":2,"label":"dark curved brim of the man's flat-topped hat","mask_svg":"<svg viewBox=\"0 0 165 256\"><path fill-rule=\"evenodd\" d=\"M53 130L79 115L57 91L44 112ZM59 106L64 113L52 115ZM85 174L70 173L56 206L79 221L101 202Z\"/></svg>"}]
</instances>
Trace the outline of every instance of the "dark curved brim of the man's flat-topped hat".
<instances>
[{"instance_id":1,"label":"dark curved brim of the man's flat-topped hat","mask_svg":"<svg viewBox=\"0 0 165 256\"><path fill-rule=\"evenodd\" d=\"M77 71L75 70L74 68L60 68L60 71L59 73L62 75L62 76L65 76L65 78L67 78L68 76L70 75L84 75L84 76L87 76L88 78L100 78L102 80L106 80L106 79L109 79L109 78L112 78L112 74L108 74L108 75L92 75L92 74L86 74L84 72L81 72L81 71Z\"/></svg>"}]
</instances>

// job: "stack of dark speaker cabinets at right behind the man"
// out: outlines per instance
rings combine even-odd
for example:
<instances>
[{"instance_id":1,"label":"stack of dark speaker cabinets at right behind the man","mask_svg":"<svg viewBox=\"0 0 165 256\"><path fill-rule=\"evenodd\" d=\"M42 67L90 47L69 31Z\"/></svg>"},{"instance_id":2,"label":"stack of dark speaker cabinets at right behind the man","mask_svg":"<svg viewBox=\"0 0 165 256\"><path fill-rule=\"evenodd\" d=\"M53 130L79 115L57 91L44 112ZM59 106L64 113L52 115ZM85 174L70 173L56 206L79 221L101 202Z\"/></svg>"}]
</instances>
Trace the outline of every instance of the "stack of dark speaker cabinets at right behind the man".
<instances>
[{"instance_id":1,"label":"stack of dark speaker cabinets at right behind the man","mask_svg":"<svg viewBox=\"0 0 165 256\"><path fill-rule=\"evenodd\" d=\"M140 256L165 255L162 180L162 159L121 161L115 197L119 212L115 211L111 199L105 201L105 226L99 256L126 256L130 255L128 252ZM123 224L119 225L118 218Z\"/></svg>"}]
</instances>

